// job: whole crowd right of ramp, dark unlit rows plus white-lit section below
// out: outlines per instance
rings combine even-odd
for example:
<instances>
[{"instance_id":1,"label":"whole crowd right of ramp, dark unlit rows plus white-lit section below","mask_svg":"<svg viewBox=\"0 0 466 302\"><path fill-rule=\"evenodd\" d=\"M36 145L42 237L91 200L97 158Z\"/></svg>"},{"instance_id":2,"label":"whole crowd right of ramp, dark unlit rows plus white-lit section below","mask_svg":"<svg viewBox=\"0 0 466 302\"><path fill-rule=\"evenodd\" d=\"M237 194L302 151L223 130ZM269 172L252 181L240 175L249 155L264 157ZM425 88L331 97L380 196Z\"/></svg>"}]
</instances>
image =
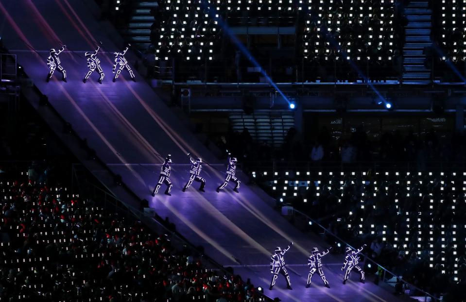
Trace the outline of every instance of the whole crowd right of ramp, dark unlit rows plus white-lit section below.
<instances>
[{"instance_id":1,"label":"whole crowd right of ramp, dark unlit rows plus white-lit section below","mask_svg":"<svg viewBox=\"0 0 466 302\"><path fill-rule=\"evenodd\" d=\"M307 147L292 129L283 149L275 151L274 170L260 160L256 151L262 150L254 147L247 131L233 137L244 146L240 148L246 155L245 169L255 171L255 180L272 196L283 198L353 246L366 243L369 257L410 284L443 296L443 301L464 301L463 135L445 138L430 130L418 137L395 131L381 135L380 149L374 150L362 128L340 144L323 128ZM375 159L376 153L380 166L365 167L362 162ZM290 159L309 164L293 164ZM443 167L437 165L440 160ZM336 241L331 235L328 239ZM366 269L369 274L377 271L374 266ZM398 294L414 293L413 288L400 286Z\"/></svg>"}]
</instances>

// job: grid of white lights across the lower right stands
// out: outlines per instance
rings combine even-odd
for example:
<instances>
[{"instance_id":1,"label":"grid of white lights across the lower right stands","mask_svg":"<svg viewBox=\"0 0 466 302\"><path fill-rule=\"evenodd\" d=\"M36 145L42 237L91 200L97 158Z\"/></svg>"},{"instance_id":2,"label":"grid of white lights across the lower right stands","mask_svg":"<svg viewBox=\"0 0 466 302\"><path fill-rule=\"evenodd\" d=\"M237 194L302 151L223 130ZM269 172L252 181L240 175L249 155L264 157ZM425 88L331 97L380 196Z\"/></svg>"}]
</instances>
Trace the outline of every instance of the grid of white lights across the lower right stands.
<instances>
[{"instance_id":1,"label":"grid of white lights across the lower right stands","mask_svg":"<svg viewBox=\"0 0 466 302\"><path fill-rule=\"evenodd\" d=\"M286 199L303 196L312 201L333 194L341 208L352 190L356 202L338 219L352 234L380 237L395 250L424 259L429 267L440 268L458 280L458 250L466 248L466 172L367 172L341 171L256 171L257 177L269 180L276 196ZM273 180L270 180L273 179ZM311 193L308 191L311 189ZM359 204L359 205L358 205ZM368 209L371 208L371 211ZM367 216L367 213L375 216ZM397 217L397 225L390 224ZM445 216L450 223L446 223ZM390 219L389 219L390 218ZM439 219L440 218L440 219ZM415 253L415 254L410 254ZM451 271L448 271L451 268Z\"/></svg>"}]
</instances>

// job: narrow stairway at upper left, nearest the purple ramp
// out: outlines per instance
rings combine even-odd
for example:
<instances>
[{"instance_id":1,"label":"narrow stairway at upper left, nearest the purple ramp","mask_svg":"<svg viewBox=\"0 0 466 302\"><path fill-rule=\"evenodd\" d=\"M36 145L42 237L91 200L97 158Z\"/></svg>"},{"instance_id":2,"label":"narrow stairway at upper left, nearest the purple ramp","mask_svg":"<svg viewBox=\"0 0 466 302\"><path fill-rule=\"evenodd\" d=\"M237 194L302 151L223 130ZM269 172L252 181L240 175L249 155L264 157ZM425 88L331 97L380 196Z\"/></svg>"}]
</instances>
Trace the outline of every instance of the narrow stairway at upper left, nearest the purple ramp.
<instances>
[{"instance_id":1,"label":"narrow stairway at upper left, nearest the purple ramp","mask_svg":"<svg viewBox=\"0 0 466 302\"><path fill-rule=\"evenodd\" d=\"M134 8L125 35L138 50L146 50L151 45L150 34L154 17L150 11L157 5L157 1L136 0L133 3Z\"/></svg>"}]
</instances>

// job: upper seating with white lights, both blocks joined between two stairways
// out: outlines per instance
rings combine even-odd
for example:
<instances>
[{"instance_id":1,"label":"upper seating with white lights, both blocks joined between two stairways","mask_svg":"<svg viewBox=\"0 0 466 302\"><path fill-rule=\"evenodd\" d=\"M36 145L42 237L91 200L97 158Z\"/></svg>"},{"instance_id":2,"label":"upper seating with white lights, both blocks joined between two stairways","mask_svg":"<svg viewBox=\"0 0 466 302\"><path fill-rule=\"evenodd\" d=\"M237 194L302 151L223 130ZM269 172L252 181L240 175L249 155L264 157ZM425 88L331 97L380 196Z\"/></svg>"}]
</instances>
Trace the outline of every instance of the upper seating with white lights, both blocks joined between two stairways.
<instances>
[{"instance_id":1,"label":"upper seating with white lights, both blocks joined between two stairways","mask_svg":"<svg viewBox=\"0 0 466 302\"><path fill-rule=\"evenodd\" d=\"M160 60L215 60L221 47L219 22L235 25L237 14L249 16L253 11L264 11L275 16L275 11L283 11L288 16L300 16L297 34L305 58L336 52L344 59L391 60L401 43L393 6L394 0L216 0L208 4L200 0L160 0L151 41Z\"/></svg>"}]
</instances>

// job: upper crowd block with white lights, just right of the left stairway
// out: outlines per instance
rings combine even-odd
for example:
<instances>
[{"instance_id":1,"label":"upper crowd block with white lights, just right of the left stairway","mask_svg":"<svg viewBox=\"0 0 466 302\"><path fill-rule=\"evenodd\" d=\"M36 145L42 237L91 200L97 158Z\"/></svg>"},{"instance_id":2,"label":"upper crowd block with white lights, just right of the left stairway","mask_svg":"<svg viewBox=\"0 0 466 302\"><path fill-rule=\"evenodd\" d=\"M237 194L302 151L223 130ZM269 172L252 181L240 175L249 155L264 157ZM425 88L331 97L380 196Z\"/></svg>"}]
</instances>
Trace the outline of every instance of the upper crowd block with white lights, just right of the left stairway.
<instances>
[{"instance_id":1,"label":"upper crowd block with white lights, just right of the left stairway","mask_svg":"<svg viewBox=\"0 0 466 302\"><path fill-rule=\"evenodd\" d=\"M174 72L188 72L187 77L204 77L207 61L219 60L222 29L215 20L215 10L200 0L159 0L151 9L151 46L148 63L172 67L175 59L181 67ZM155 61L153 61L155 59Z\"/></svg>"}]
</instances>

